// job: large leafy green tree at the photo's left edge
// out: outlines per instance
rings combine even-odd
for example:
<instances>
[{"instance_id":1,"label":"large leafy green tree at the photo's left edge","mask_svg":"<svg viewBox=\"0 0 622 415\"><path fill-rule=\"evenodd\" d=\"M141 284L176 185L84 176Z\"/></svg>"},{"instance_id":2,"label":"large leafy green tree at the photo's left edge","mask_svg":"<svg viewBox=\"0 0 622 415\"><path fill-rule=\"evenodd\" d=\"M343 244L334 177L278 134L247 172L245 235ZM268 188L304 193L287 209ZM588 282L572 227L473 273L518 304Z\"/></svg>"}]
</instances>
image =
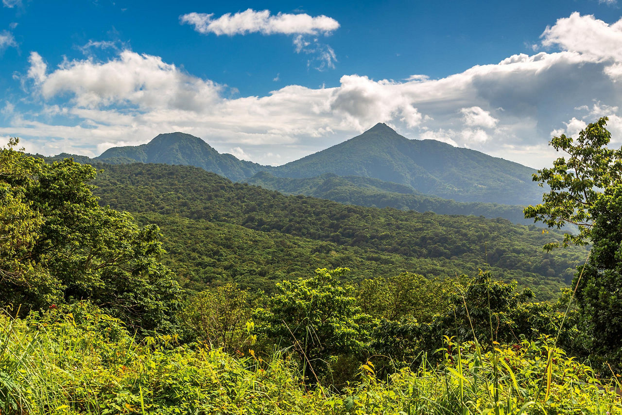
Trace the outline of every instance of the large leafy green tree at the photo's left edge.
<instances>
[{"instance_id":1,"label":"large leafy green tree at the photo's left edge","mask_svg":"<svg viewBox=\"0 0 622 415\"><path fill-rule=\"evenodd\" d=\"M91 166L0 151L0 295L37 310L88 299L132 329L172 329L180 289L155 225L101 207Z\"/></svg>"}]
</instances>

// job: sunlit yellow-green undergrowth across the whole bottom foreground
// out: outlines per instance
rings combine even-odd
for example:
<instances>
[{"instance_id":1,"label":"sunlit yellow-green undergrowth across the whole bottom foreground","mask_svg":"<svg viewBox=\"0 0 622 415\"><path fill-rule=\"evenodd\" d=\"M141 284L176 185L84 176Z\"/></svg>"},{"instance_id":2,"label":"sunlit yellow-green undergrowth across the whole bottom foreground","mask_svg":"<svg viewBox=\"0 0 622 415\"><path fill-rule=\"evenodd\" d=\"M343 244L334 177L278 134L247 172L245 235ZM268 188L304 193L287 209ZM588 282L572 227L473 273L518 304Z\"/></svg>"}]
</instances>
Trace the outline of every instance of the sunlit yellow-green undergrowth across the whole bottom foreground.
<instances>
[{"instance_id":1,"label":"sunlit yellow-green undergrowth across the whole bottom foreground","mask_svg":"<svg viewBox=\"0 0 622 415\"><path fill-rule=\"evenodd\" d=\"M294 355L231 356L174 337L138 341L85 303L0 317L2 414L615 414L616 380L541 337L457 343L388 378L373 358L343 391L309 389Z\"/></svg>"}]
</instances>

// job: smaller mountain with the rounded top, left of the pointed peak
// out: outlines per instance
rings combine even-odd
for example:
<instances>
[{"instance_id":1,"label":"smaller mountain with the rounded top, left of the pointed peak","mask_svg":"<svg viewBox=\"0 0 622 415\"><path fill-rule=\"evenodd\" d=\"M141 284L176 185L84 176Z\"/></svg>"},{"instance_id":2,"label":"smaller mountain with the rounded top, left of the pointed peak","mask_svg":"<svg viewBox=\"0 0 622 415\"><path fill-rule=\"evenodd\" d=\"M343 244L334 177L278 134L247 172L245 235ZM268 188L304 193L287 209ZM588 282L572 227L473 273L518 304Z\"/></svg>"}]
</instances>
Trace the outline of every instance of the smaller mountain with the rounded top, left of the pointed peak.
<instances>
[{"instance_id":1,"label":"smaller mountain with the rounded top, left of the pointed peak","mask_svg":"<svg viewBox=\"0 0 622 415\"><path fill-rule=\"evenodd\" d=\"M201 167L231 180L243 180L268 166L220 154L202 139L184 133L159 134L140 146L113 147L95 157L109 164L164 163Z\"/></svg>"}]
</instances>

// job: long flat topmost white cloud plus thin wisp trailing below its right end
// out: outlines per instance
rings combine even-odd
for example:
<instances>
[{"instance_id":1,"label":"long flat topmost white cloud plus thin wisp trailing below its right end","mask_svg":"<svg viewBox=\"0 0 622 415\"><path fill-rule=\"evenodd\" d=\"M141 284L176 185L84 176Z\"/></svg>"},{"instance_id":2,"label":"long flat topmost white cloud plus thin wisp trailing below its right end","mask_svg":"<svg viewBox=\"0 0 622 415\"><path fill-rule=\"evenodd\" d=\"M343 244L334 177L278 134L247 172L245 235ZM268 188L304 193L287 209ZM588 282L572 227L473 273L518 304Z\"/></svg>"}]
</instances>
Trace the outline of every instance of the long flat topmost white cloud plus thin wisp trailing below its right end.
<instances>
[{"instance_id":1,"label":"long flat topmost white cloud plus thin wisp trailing below its right end","mask_svg":"<svg viewBox=\"0 0 622 415\"><path fill-rule=\"evenodd\" d=\"M216 19L210 13L188 13L179 17L182 24L190 24L201 34L246 35L293 35L294 50L297 54L310 55L308 67L317 70L335 68L337 55L330 45L320 42L318 35L328 36L339 28L339 22L327 16L309 16L309 14L271 14L269 10L254 11L247 9L235 14L223 14Z\"/></svg>"}]
</instances>

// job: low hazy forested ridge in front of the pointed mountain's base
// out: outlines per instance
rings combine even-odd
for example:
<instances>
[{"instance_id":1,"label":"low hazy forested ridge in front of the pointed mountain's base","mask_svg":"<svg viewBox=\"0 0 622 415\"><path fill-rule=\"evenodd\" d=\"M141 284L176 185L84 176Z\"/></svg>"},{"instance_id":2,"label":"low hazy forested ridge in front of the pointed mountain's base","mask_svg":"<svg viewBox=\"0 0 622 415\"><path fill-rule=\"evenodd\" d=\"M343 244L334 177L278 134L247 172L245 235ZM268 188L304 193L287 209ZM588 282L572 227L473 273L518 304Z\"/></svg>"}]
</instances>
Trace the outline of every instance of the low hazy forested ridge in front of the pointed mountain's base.
<instances>
[{"instance_id":1,"label":"low hazy forested ridge in front of the pointed mountain's base","mask_svg":"<svg viewBox=\"0 0 622 415\"><path fill-rule=\"evenodd\" d=\"M248 184L276 190L282 194L305 195L350 205L368 207L392 207L400 210L434 212L443 215L474 215L486 218L504 218L514 223L531 225L533 220L525 219L522 206L501 205L484 202L456 202L455 200L425 195L412 187L379 179L361 176L338 176L325 173L316 177L292 179L276 177L268 172L259 172Z\"/></svg>"}]
</instances>

